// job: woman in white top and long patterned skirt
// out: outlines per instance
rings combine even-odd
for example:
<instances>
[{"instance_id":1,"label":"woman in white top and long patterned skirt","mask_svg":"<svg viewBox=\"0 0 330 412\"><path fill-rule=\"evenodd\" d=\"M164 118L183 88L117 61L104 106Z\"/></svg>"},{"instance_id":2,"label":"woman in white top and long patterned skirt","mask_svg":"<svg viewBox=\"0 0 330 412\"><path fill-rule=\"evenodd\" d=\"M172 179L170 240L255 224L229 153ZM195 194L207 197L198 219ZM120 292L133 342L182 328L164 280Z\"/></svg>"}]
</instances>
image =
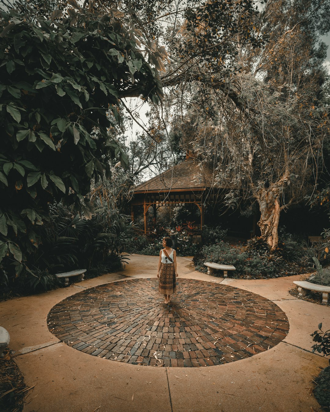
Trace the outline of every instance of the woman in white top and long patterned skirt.
<instances>
[{"instance_id":1,"label":"woman in white top and long patterned skirt","mask_svg":"<svg viewBox=\"0 0 330 412\"><path fill-rule=\"evenodd\" d=\"M171 295L177 288L177 252L172 249L172 239L164 237L163 249L159 252L158 272L159 278L158 292L163 293L164 303L171 302Z\"/></svg>"}]
</instances>

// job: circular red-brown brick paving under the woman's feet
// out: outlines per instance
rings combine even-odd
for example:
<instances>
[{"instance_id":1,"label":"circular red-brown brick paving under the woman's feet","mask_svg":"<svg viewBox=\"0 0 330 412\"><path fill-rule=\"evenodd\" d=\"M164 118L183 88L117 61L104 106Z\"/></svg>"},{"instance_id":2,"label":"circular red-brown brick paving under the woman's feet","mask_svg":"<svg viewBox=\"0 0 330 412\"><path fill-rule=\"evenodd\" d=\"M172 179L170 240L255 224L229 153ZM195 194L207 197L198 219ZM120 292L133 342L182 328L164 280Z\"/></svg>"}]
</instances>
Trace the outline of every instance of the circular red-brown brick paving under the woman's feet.
<instances>
[{"instance_id":1,"label":"circular red-brown brick paving under the woman's feet","mask_svg":"<svg viewBox=\"0 0 330 412\"><path fill-rule=\"evenodd\" d=\"M157 279L116 281L55 305L48 328L79 351L139 365L212 366L275 346L288 319L273 302L218 283L179 279L169 305Z\"/></svg>"}]
</instances>

